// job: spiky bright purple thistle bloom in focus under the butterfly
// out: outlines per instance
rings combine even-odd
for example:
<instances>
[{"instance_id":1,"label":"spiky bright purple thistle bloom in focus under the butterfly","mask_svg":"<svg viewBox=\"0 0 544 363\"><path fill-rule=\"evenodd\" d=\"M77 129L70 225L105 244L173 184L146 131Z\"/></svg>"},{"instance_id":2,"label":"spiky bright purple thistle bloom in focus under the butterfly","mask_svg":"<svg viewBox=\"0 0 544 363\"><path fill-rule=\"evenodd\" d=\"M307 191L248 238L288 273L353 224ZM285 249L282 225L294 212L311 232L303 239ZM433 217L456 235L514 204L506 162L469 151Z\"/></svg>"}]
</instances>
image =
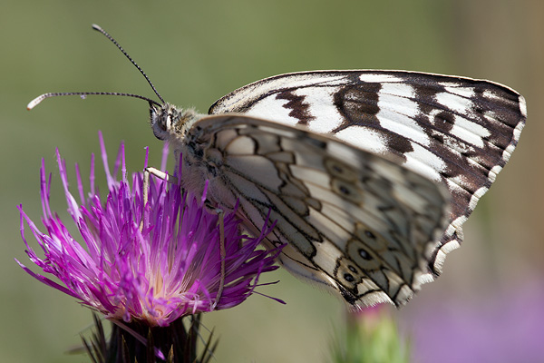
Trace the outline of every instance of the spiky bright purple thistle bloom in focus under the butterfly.
<instances>
[{"instance_id":1,"label":"spiky bright purple thistle bloom in focus under the butterfly","mask_svg":"<svg viewBox=\"0 0 544 363\"><path fill-rule=\"evenodd\" d=\"M94 186L94 155L91 191L86 198L76 164L78 204L68 190L65 162L56 152L68 211L81 233L84 247L50 210L51 174L47 179L44 161L41 199L46 232L40 231L22 206L18 206L26 254L44 273L54 275L62 284L34 273L17 260L35 279L81 300L107 319L165 327L183 316L237 306L254 292L262 272L277 269L274 259L279 250L256 250L268 231L257 238L247 238L239 233L234 213L227 214L225 280L218 296L219 217L206 211L202 205L204 197L197 199L156 178L151 178L149 201L143 209L142 173L132 175L131 188L121 144L114 175L122 159L122 178L121 182L116 181L109 170L102 134L99 137L109 189L105 200ZM163 164L165 160L163 156ZM44 259L38 257L25 239L24 222L44 251Z\"/></svg>"}]
</instances>

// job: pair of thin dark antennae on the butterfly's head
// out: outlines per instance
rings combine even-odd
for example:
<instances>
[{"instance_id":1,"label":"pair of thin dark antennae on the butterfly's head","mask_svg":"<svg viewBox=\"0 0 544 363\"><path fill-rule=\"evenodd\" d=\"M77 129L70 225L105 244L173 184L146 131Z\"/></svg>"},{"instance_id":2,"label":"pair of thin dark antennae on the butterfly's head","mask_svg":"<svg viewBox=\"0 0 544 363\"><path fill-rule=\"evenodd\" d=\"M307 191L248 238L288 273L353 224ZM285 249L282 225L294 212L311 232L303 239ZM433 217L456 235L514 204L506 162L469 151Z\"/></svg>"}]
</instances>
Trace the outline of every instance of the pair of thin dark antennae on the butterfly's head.
<instances>
[{"instance_id":1,"label":"pair of thin dark antennae on the butterfly's head","mask_svg":"<svg viewBox=\"0 0 544 363\"><path fill-rule=\"evenodd\" d=\"M97 32L100 32L102 33L106 38L108 38L113 44L115 44L115 46L117 46L117 48L119 48L119 50L121 51L122 54L124 54L125 57L127 57L127 59L129 61L131 61L131 64L134 64L134 66L140 71L141 75L144 76L144 78L146 79L146 81L151 85L151 89L153 90L153 92L155 94L157 94L157 97L159 97L160 99L160 102L162 104L164 104L164 99L160 96L160 93L157 92L157 89L155 88L155 86L153 85L153 83L151 83L151 80L150 78L148 77L147 74L145 74L145 72L143 72L143 70L141 69L140 65L136 64L136 62L134 62L134 60L131 58L131 56L125 52L124 49L122 49L121 45L119 43L117 43L117 41L115 39L113 39L112 35L108 34L105 30L102 29L102 27L100 27L99 25L95 25L93 24L92 25L92 29L96 30ZM98 95L109 95L109 96L126 96L126 97L134 97L134 98L140 98L141 100L145 100L147 102L149 102L150 104L156 104L158 106L161 105L161 103L158 103L157 101L154 101L154 100L151 100L151 98L148 98L148 97L144 97L144 96L141 96L139 94L133 94L133 93L119 93L119 92L61 92L61 93L44 93L44 94L41 94L39 95L38 97L34 98L34 100L32 100L30 103L28 103L26 105L26 109L27 110L32 110L35 106L37 106L39 103L41 103L42 101L44 101L46 98L51 98L51 97L56 97L56 96L71 96L71 95L79 95L81 96L83 99L85 98L85 96L87 95L95 95L95 94L98 94Z\"/></svg>"}]
</instances>

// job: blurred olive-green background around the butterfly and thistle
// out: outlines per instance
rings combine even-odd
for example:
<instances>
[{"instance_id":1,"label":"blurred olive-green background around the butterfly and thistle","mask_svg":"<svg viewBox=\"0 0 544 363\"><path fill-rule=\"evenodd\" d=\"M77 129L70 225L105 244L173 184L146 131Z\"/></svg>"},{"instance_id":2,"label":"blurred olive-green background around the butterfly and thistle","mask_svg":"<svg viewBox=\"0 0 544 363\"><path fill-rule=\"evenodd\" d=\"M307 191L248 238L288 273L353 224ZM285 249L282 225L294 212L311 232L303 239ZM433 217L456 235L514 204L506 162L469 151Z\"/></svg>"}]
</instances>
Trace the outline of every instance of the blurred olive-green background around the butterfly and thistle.
<instances>
[{"instance_id":1,"label":"blurred olive-green background around the butterfly and thistle","mask_svg":"<svg viewBox=\"0 0 544 363\"><path fill-rule=\"evenodd\" d=\"M452 252L441 279L424 286L406 308L392 309L407 333L421 319L432 319L445 334L448 327L441 327L440 319L446 310L471 304L492 309L505 301L508 306L520 289L543 285L543 15L539 0L4 0L0 361L87 361L64 352L79 344L79 333L92 321L90 311L33 280L14 261L30 264L15 206L23 203L24 211L39 221L41 158L53 172L53 209L66 221L55 147L71 168L80 162L88 170L102 130L112 155L121 140L126 142L130 171L141 169L144 146L155 152L151 163L160 160L145 102L63 97L25 110L26 103L45 92L153 97L131 64L92 31L92 23L117 38L166 100L201 112L246 83L317 69L460 74L505 83L522 93L529 105L528 126L510 164L466 224L462 248ZM28 231L27 238L32 239ZM332 331L344 323L343 304L283 271L266 280L281 280L261 291L285 299L287 306L254 296L236 309L205 317L221 339L217 361L325 361ZM471 331L466 334L470 337ZM504 334L508 339L509 332Z\"/></svg>"}]
</instances>

